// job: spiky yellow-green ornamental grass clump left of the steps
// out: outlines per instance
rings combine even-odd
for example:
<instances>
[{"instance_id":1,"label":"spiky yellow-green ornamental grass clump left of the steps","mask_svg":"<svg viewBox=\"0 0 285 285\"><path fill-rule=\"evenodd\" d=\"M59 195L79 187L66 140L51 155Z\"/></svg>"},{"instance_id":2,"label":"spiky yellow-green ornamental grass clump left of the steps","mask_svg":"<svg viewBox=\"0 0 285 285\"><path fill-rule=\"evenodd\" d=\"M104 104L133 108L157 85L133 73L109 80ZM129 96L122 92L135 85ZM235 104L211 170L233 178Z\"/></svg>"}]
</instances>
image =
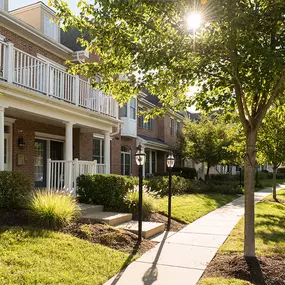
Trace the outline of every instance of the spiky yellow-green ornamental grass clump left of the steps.
<instances>
[{"instance_id":1,"label":"spiky yellow-green ornamental grass clump left of the steps","mask_svg":"<svg viewBox=\"0 0 285 285\"><path fill-rule=\"evenodd\" d=\"M27 209L38 224L50 228L67 225L80 213L80 208L71 195L44 190L30 195Z\"/></svg>"}]
</instances>

